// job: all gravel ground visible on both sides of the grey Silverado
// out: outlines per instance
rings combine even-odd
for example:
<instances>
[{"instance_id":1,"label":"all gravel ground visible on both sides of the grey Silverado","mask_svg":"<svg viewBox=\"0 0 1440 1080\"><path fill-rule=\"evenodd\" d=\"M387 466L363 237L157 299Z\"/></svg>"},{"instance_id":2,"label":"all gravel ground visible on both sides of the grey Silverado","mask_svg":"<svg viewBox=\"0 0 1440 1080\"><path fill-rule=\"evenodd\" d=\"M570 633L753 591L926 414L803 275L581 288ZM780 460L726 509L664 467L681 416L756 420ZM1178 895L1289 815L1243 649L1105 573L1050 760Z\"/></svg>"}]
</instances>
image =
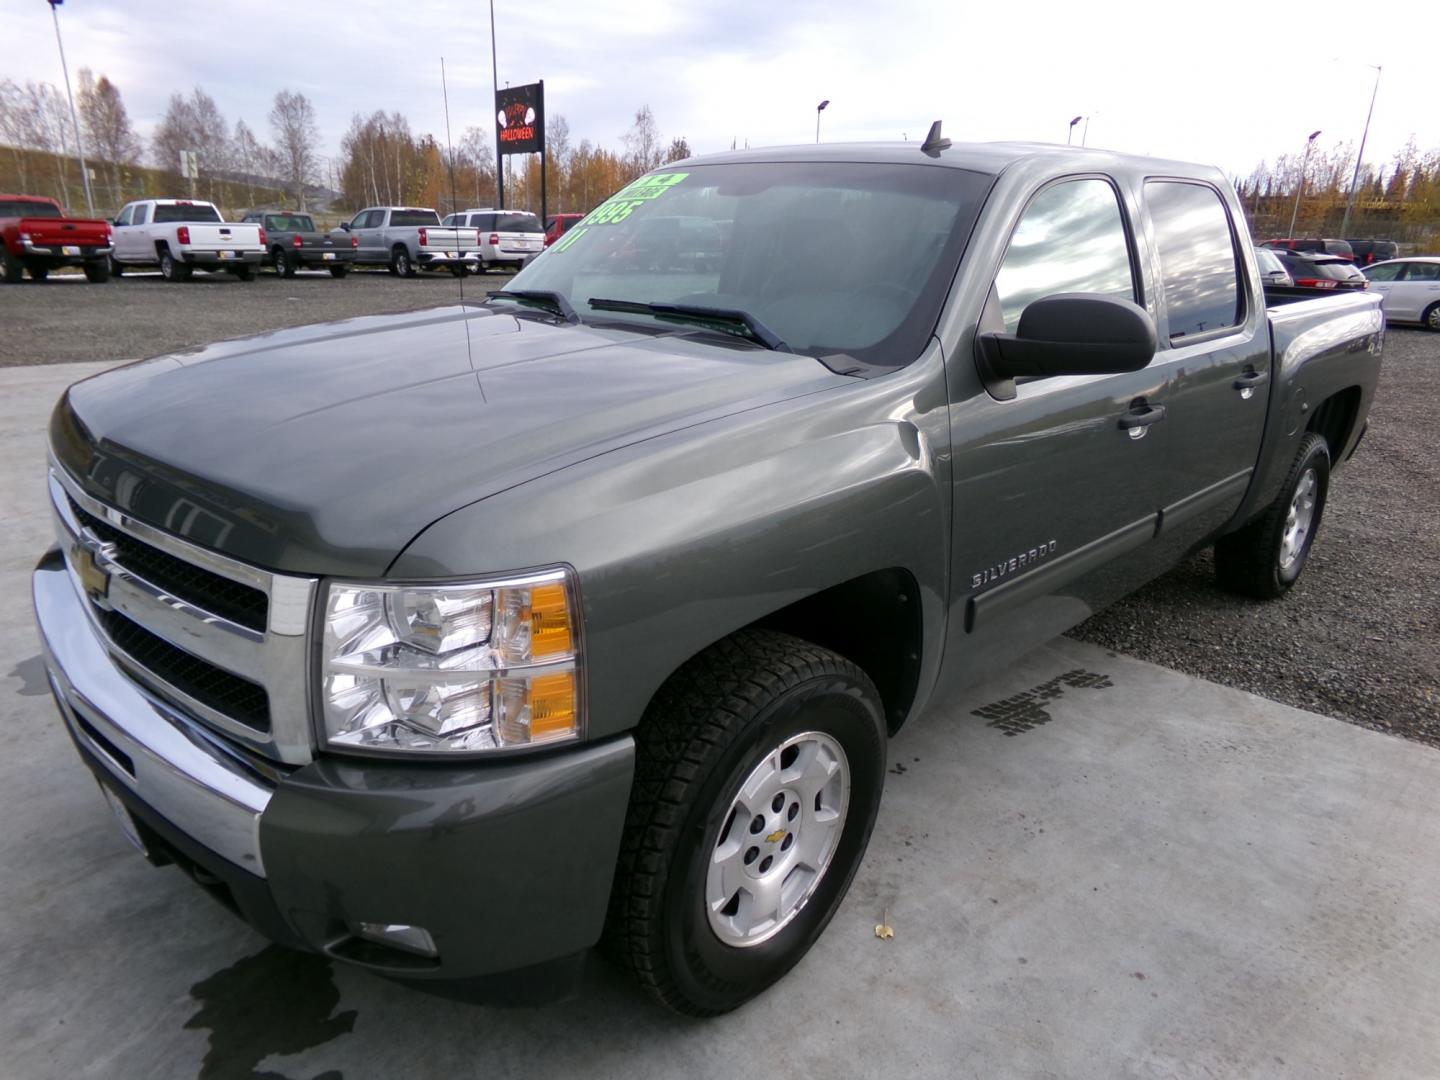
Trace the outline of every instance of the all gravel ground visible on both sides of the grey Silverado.
<instances>
[{"instance_id":1,"label":"all gravel ground visible on both sides of the grey Silverado","mask_svg":"<svg viewBox=\"0 0 1440 1080\"><path fill-rule=\"evenodd\" d=\"M467 295L508 276L465 279ZM266 272L170 285L52 276L0 288L0 366L125 360L265 330L454 302L448 274ZM1272 603L1214 588L1208 552L1073 636L1276 701L1440 746L1440 334L1391 330L1371 428L1335 477L1300 585Z\"/></svg>"}]
</instances>

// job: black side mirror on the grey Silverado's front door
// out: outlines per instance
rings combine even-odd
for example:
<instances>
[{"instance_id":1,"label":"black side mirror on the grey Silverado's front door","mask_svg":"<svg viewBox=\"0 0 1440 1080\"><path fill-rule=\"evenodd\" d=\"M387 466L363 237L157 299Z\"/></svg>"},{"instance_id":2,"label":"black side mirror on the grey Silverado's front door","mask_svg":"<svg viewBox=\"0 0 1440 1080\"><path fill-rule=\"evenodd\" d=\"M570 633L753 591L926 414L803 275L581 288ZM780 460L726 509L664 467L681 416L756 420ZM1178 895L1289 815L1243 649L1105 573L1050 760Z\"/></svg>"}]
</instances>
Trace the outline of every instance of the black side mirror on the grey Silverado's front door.
<instances>
[{"instance_id":1,"label":"black side mirror on the grey Silverado's front door","mask_svg":"<svg viewBox=\"0 0 1440 1080\"><path fill-rule=\"evenodd\" d=\"M1014 334L981 334L979 347L998 380L1119 374L1155 359L1155 323L1129 300L1063 292L1030 304Z\"/></svg>"}]
</instances>

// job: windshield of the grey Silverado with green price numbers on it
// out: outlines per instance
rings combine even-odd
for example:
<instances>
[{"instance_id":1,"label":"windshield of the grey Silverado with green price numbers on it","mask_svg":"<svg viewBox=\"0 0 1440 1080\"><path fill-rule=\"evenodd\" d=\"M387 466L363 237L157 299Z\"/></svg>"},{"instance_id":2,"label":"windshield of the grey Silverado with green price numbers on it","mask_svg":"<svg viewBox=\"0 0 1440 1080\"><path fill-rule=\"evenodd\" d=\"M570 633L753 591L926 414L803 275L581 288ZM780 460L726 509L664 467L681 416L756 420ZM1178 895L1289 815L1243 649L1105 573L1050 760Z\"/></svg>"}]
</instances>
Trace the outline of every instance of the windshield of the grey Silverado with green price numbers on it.
<instances>
[{"instance_id":1,"label":"windshield of the grey Silverado with green price numbers on it","mask_svg":"<svg viewBox=\"0 0 1440 1080\"><path fill-rule=\"evenodd\" d=\"M798 353L899 366L919 356L992 177L929 164L775 161L652 173L516 276L592 300L744 311Z\"/></svg>"}]
</instances>

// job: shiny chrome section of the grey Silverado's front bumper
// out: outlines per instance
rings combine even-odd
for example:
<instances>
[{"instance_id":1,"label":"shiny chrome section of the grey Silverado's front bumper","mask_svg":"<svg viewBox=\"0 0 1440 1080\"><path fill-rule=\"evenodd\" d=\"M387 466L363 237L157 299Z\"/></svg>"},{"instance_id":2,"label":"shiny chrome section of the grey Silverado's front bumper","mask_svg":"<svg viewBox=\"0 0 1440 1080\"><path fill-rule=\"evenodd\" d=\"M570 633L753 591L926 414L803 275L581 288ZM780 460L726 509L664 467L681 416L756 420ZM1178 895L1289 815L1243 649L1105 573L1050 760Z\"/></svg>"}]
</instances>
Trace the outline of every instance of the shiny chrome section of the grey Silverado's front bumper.
<instances>
[{"instance_id":1,"label":"shiny chrome section of the grey Silverado's front bumper","mask_svg":"<svg viewBox=\"0 0 1440 1080\"><path fill-rule=\"evenodd\" d=\"M210 851L264 877L259 822L275 785L115 667L58 550L36 567L30 589L50 690L65 726L105 779Z\"/></svg>"}]
</instances>

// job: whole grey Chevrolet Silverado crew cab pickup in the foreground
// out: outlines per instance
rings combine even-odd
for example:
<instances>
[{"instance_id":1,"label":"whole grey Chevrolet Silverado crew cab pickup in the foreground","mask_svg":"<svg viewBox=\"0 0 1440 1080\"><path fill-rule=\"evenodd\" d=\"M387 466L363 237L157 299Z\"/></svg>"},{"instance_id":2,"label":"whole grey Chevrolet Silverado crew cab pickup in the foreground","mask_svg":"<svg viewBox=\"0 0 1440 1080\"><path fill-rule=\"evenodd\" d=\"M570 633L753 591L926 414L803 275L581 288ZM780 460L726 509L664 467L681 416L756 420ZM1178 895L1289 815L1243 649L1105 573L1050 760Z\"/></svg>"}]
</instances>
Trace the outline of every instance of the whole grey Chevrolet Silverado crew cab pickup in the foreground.
<instances>
[{"instance_id":1,"label":"whole grey Chevrolet Silverado crew cab pickup in the foreground","mask_svg":"<svg viewBox=\"0 0 1440 1080\"><path fill-rule=\"evenodd\" d=\"M720 258L626 259L649 216ZM1382 333L1269 310L1214 168L668 164L484 305L72 386L50 685L132 841L278 942L510 1001L600 945L721 1012L824 930L929 703L1207 544L1295 583Z\"/></svg>"}]
</instances>

